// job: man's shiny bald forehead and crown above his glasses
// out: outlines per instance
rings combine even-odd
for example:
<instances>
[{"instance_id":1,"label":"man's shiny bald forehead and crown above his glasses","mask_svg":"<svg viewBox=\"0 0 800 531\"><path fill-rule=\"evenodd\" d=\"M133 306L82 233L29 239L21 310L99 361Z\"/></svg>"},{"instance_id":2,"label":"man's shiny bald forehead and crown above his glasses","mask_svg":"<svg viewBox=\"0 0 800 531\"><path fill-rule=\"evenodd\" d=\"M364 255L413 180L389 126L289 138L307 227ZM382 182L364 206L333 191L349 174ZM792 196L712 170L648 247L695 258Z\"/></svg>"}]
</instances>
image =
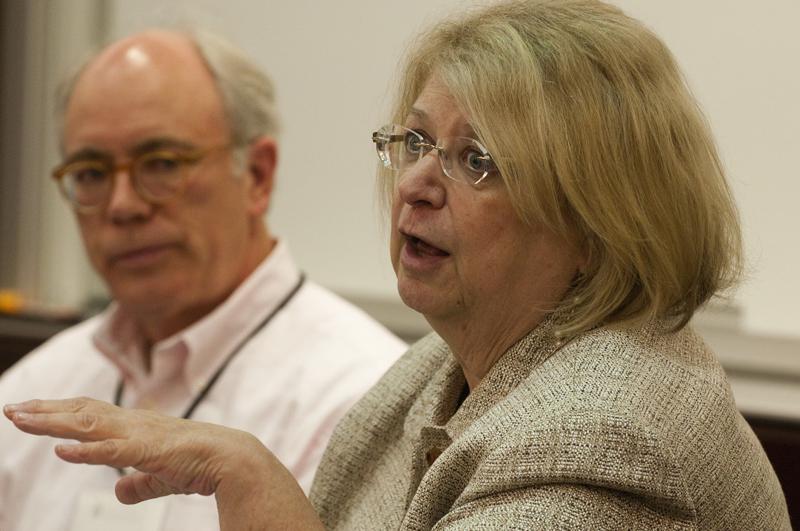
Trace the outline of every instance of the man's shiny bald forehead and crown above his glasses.
<instances>
[{"instance_id":1,"label":"man's shiny bald forehead and crown above his glasses","mask_svg":"<svg viewBox=\"0 0 800 531\"><path fill-rule=\"evenodd\" d=\"M124 126L123 126L124 124ZM120 138L180 132L230 142L213 75L185 36L148 31L112 44L78 76L67 102L63 147L123 145Z\"/></svg>"}]
</instances>

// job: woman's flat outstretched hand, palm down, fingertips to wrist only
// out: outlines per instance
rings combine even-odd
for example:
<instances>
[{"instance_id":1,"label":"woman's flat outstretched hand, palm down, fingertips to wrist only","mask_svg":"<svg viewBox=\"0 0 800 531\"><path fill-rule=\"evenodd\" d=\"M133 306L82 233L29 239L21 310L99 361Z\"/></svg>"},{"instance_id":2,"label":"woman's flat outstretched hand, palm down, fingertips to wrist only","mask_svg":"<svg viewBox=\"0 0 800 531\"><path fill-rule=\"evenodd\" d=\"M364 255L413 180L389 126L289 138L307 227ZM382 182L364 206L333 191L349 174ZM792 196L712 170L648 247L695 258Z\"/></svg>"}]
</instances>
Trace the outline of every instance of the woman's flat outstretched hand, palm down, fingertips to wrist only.
<instances>
[{"instance_id":1,"label":"woman's flat outstretched hand, palm down, fingertips to wrist only","mask_svg":"<svg viewBox=\"0 0 800 531\"><path fill-rule=\"evenodd\" d=\"M129 504L167 494L213 494L231 464L266 452L242 431L89 398L30 400L3 411L27 433L79 441L56 446L65 461L136 469L116 487L117 498Z\"/></svg>"}]
</instances>

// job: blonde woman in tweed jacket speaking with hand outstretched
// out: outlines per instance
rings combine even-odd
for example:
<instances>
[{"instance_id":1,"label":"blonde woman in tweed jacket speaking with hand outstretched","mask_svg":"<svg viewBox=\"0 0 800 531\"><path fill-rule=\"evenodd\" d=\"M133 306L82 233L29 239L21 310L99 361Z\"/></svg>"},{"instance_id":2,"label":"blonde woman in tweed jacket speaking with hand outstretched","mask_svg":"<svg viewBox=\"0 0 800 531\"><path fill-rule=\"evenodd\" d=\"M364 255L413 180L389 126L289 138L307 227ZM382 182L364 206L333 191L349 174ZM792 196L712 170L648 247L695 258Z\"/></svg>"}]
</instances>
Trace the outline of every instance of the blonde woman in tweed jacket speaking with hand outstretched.
<instances>
[{"instance_id":1,"label":"blonde woman in tweed jacket speaking with hand outstretched","mask_svg":"<svg viewBox=\"0 0 800 531\"><path fill-rule=\"evenodd\" d=\"M341 422L311 502L242 432L86 399L6 415L137 468L125 503L215 493L224 529L788 529L687 326L739 228L664 45L596 1L501 3L420 38L392 120L392 262L436 333Z\"/></svg>"}]
</instances>

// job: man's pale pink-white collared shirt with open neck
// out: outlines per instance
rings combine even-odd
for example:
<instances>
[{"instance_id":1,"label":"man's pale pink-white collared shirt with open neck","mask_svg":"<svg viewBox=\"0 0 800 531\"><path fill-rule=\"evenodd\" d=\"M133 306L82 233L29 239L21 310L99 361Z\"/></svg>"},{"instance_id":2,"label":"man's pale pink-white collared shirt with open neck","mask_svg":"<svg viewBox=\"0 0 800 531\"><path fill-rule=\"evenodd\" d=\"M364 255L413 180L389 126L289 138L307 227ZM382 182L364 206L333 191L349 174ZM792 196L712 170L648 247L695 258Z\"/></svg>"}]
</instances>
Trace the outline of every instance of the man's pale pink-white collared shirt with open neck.
<instances>
[{"instance_id":1,"label":"man's pale pink-white collared shirt with open neck","mask_svg":"<svg viewBox=\"0 0 800 531\"><path fill-rule=\"evenodd\" d=\"M0 378L0 403L90 396L181 416L234 354L191 418L256 435L308 490L334 425L405 350L361 310L306 281L251 339L300 278L288 247L209 315L153 346L146 369L136 327L112 305L28 354ZM0 529L70 530L82 493L111 492L109 467L73 465L57 441L0 422ZM149 503L149 502L145 502ZM213 496L172 496L161 529L216 530Z\"/></svg>"}]
</instances>

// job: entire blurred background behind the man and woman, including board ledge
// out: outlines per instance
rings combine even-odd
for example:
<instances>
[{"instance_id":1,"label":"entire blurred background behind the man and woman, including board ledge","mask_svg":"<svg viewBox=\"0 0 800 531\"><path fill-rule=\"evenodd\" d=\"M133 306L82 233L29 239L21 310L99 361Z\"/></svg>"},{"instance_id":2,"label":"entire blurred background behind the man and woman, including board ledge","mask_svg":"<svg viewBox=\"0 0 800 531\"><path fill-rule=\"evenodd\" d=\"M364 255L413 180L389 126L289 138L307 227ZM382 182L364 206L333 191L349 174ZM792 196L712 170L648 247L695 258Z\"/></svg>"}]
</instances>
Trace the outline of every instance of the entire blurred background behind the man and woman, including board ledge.
<instances>
[{"instance_id":1,"label":"entire blurred background behind the man and woman, including board ledge","mask_svg":"<svg viewBox=\"0 0 800 531\"><path fill-rule=\"evenodd\" d=\"M91 51L152 25L218 32L264 66L283 118L270 227L288 240L311 278L406 338L424 334L424 320L395 293L369 139L385 121L398 60L413 35L476 3L2 0L2 363L15 359L10 351L25 350L106 300L49 177L59 161L52 94ZM723 360L751 422L796 433L800 2L614 3L650 26L677 57L715 132L741 210L747 281L702 312L696 326ZM789 458L796 477L798 455Z\"/></svg>"}]
</instances>

